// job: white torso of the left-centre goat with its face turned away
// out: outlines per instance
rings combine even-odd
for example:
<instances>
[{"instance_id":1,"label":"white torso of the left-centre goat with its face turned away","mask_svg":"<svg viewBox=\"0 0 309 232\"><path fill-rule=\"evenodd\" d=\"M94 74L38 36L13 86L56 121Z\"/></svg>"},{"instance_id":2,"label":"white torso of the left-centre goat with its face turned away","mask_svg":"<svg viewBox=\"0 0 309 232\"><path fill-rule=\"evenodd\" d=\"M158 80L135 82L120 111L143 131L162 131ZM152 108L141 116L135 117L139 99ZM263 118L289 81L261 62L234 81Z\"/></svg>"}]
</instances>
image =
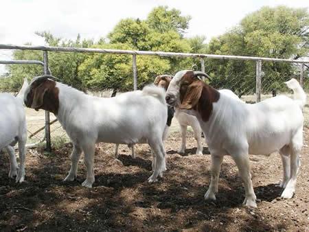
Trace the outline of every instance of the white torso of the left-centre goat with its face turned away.
<instances>
[{"instance_id":1,"label":"white torso of the left-centre goat with its face turned away","mask_svg":"<svg viewBox=\"0 0 309 232\"><path fill-rule=\"evenodd\" d=\"M116 97L93 97L57 82L59 111L56 115L73 142L138 143L163 135L167 107L143 91ZM67 97L67 96L70 97ZM70 107L72 106L72 107Z\"/></svg>"}]
</instances>

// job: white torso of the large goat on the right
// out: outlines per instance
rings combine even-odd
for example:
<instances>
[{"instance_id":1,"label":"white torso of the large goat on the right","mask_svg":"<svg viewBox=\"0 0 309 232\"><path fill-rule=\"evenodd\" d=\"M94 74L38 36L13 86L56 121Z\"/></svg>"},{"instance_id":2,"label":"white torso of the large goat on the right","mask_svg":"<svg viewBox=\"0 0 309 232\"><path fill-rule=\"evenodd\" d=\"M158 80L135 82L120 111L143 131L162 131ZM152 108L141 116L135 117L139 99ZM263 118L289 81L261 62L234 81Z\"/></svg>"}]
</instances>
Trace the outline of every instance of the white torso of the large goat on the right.
<instances>
[{"instance_id":1,"label":"white torso of the large goat on the right","mask_svg":"<svg viewBox=\"0 0 309 232\"><path fill-rule=\"evenodd\" d=\"M283 95L246 104L221 94L213 106L209 121L199 121L209 149L224 154L239 144L249 148L249 154L271 154L288 145L303 126L301 108Z\"/></svg>"}]
</instances>

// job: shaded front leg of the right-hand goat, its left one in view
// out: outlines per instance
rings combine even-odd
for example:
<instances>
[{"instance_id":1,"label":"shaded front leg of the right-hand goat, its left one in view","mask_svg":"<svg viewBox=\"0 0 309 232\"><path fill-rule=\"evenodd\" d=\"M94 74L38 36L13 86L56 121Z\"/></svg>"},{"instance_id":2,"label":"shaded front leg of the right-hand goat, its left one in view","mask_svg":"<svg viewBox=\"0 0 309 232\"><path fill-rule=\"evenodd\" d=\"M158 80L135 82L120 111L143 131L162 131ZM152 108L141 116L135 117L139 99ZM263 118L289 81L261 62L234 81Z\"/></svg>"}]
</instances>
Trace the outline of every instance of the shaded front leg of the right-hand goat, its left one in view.
<instances>
[{"instance_id":1,"label":"shaded front leg of the right-hand goat, its left one in view","mask_svg":"<svg viewBox=\"0 0 309 232\"><path fill-rule=\"evenodd\" d=\"M221 154L211 154L211 180L209 188L204 196L205 200L216 200L216 193L218 192L218 182L220 168L223 161Z\"/></svg>"}]
</instances>

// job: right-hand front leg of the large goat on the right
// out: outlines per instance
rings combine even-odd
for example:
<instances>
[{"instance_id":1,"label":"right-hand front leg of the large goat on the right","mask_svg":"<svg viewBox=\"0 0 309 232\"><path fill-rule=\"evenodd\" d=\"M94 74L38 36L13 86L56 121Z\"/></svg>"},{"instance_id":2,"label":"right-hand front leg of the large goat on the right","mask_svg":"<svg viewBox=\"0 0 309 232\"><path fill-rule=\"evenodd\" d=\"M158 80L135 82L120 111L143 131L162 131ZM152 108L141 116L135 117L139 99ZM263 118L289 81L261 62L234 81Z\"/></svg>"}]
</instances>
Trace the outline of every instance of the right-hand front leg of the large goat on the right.
<instances>
[{"instance_id":1,"label":"right-hand front leg of the large goat on the right","mask_svg":"<svg viewBox=\"0 0 309 232\"><path fill-rule=\"evenodd\" d=\"M240 177L244 183L245 198L243 204L247 207L256 208L256 196L253 190L253 185L251 181L250 173L250 163L248 152L239 152L231 154L233 160L235 161Z\"/></svg>"}]
</instances>

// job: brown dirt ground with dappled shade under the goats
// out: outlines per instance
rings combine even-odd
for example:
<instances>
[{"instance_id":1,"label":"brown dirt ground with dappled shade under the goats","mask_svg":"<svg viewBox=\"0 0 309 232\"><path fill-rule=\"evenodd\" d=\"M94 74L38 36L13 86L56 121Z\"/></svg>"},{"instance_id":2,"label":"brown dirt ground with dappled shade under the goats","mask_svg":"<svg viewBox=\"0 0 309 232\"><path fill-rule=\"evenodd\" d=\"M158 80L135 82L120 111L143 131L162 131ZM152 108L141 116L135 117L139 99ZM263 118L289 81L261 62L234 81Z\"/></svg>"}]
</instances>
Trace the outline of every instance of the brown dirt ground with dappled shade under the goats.
<instances>
[{"instance_id":1,"label":"brown dirt ground with dappled shade under the goats","mask_svg":"<svg viewBox=\"0 0 309 232\"><path fill-rule=\"evenodd\" d=\"M305 128L305 144L309 130ZM294 198L279 198L282 179L279 154L250 156L258 209L242 206L244 188L236 165L225 157L216 202L203 196L210 181L210 156L194 154L196 143L188 132L187 150L180 155L179 132L166 142L168 171L149 184L151 154L147 145L98 144L95 183L81 186L86 170L81 159L78 180L64 183L69 171L71 144L47 154L28 150L25 182L8 178L9 159L0 154L0 231L309 231L309 149L304 146Z\"/></svg>"}]
</instances>

